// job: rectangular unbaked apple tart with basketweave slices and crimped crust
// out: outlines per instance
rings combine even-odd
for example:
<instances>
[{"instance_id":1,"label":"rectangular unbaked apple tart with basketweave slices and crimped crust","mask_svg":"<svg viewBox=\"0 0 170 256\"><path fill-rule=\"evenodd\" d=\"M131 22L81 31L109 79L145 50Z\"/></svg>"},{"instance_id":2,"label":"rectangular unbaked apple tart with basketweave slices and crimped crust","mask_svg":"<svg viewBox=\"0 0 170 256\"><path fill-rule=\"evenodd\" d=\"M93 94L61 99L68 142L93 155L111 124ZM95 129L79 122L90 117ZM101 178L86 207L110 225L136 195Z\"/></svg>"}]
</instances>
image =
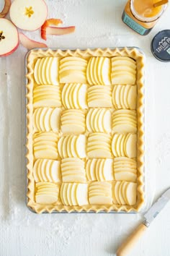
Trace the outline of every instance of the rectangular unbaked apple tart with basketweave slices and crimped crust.
<instances>
[{"instance_id":1,"label":"rectangular unbaked apple tart with basketweave slices and crimped crust","mask_svg":"<svg viewBox=\"0 0 170 256\"><path fill-rule=\"evenodd\" d=\"M27 54L27 205L138 212L144 203L138 48Z\"/></svg>"}]
</instances>

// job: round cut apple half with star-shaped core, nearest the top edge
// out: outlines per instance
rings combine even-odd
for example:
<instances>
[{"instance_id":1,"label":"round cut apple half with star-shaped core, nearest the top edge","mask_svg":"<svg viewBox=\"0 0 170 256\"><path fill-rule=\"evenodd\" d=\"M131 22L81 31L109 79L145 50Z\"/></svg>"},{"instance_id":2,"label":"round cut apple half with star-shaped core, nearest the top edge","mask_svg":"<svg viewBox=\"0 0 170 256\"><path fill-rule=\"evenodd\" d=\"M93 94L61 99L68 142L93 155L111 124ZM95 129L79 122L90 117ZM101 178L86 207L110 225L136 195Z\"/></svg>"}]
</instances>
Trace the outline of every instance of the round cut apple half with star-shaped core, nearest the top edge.
<instances>
[{"instance_id":1,"label":"round cut apple half with star-shaped core, nearest the top edge","mask_svg":"<svg viewBox=\"0 0 170 256\"><path fill-rule=\"evenodd\" d=\"M17 27L34 31L42 26L48 15L48 7L43 0L14 0L9 15Z\"/></svg>"}]
</instances>

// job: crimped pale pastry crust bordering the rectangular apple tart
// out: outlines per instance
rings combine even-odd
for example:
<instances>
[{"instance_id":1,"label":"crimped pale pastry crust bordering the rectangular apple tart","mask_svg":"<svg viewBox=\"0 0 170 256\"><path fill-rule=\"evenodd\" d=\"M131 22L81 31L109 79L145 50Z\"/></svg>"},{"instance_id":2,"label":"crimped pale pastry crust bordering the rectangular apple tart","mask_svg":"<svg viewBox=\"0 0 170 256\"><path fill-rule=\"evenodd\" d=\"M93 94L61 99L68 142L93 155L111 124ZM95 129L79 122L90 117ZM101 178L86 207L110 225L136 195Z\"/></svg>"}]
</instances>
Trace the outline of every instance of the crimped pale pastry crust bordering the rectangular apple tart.
<instances>
[{"instance_id":1,"label":"crimped pale pastry crust bordering the rectangular apple tart","mask_svg":"<svg viewBox=\"0 0 170 256\"><path fill-rule=\"evenodd\" d=\"M62 205L61 200L58 200L55 205L40 205L35 202L35 179L33 178L33 88L34 88L34 65L37 57L66 57L78 56L84 59L89 59L91 56L105 56L112 58L113 56L128 56L135 59L137 64L137 116L138 116L138 153L137 153L137 202L135 205L84 205L84 206L66 206ZM143 53L138 48L97 48L97 49L76 49L72 50L52 50L52 49L33 49L26 57L27 65L27 206L35 213L61 213L61 212L138 212L145 201L144 196L144 124L143 124L143 107L144 107L144 59Z\"/></svg>"}]
</instances>

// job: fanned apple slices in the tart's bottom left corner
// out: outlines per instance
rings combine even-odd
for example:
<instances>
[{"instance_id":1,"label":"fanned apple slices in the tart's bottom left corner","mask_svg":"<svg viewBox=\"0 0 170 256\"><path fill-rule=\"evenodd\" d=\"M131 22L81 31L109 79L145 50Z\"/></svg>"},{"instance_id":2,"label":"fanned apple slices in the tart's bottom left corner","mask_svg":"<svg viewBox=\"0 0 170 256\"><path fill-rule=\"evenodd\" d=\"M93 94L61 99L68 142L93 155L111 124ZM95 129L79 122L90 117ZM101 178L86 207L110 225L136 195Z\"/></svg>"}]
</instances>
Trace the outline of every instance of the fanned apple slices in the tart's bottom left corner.
<instances>
[{"instance_id":1,"label":"fanned apple slices in the tart's bottom left corner","mask_svg":"<svg viewBox=\"0 0 170 256\"><path fill-rule=\"evenodd\" d=\"M35 201L38 204L50 205L58 202L59 187L50 182L39 182L36 184Z\"/></svg>"}]
</instances>

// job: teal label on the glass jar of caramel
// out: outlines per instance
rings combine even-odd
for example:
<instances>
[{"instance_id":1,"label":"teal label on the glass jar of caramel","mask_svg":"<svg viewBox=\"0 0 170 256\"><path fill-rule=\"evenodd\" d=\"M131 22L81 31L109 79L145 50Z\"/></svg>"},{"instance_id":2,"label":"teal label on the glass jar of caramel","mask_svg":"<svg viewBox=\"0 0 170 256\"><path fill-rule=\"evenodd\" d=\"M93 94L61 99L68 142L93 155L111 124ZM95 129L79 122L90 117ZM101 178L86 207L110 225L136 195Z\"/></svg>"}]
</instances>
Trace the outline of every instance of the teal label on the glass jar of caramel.
<instances>
[{"instance_id":1,"label":"teal label on the glass jar of caramel","mask_svg":"<svg viewBox=\"0 0 170 256\"><path fill-rule=\"evenodd\" d=\"M126 25L131 27L133 30L135 30L135 32L139 33L140 35L145 35L146 31L148 31L148 29L146 29L146 27L143 27L140 24L138 24L137 22L135 22L135 20L130 18L128 16L128 14L126 14L125 12L123 14L122 20L123 20L123 22L125 22Z\"/></svg>"}]
</instances>

